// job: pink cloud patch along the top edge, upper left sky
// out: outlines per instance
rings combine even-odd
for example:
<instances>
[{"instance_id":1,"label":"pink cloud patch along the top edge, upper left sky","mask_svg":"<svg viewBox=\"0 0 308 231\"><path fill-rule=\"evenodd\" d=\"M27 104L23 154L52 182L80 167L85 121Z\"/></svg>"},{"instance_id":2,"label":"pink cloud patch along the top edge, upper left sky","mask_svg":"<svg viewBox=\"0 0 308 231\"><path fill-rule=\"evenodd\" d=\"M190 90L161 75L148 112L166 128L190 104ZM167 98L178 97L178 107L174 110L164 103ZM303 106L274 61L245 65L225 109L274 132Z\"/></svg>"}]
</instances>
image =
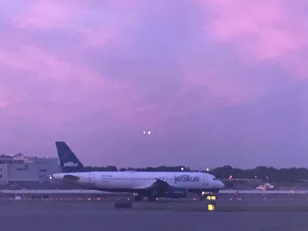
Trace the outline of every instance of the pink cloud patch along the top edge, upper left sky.
<instances>
[{"instance_id":1,"label":"pink cloud patch along the top edge, upper left sky","mask_svg":"<svg viewBox=\"0 0 308 231\"><path fill-rule=\"evenodd\" d=\"M83 48L100 47L108 41L114 43L119 39L122 27L115 24L114 19L110 20L106 14L98 11L104 9L103 3L98 5L95 8L82 1L37 1L26 11L16 15L13 22L20 28L30 30L71 31L82 38L83 43L80 45ZM86 18L86 21L82 18Z\"/></svg>"}]
</instances>

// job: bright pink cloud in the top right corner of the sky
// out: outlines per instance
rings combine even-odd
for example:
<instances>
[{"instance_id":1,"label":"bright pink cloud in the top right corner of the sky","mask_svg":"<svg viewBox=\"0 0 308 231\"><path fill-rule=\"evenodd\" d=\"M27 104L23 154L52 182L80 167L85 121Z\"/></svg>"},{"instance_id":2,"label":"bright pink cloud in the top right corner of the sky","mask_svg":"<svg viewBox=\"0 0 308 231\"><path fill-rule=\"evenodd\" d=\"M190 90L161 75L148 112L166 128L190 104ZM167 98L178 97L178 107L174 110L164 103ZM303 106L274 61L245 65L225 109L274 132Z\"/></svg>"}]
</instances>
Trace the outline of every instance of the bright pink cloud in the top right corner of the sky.
<instances>
[{"instance_id":1,"label":"bright pink cloud in the top right corner of the sky","mask_svg":"<svg viewBox=\"0 0 308 231\"><path fill-rule=\"evenodd\" d=\"M242 61L248 65L249 56L260 62L275 60L307 46L308 18L304 11L304 1L237 0L199 3L214 15L210 23L206 24L205 32L221 43L236 41ZM282 65L285 64L282 62ZM297 72L297 67L292 69Z\"/></svg>"}]
</instances>

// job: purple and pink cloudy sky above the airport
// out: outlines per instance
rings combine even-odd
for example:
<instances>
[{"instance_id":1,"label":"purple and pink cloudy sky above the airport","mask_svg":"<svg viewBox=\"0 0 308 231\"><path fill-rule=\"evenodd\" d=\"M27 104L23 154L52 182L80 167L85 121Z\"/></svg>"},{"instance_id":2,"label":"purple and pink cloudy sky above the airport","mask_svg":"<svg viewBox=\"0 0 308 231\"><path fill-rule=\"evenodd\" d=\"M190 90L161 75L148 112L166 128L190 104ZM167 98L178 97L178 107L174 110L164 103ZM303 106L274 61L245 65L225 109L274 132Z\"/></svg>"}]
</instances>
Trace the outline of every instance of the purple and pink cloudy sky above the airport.
<instances>
[{"instance_id":1,"label":"purple and pink cloudy sky above the airport","mask_svg":"<svg viewBox=\"0 0 308 231\"><path fill-rule=\"evenodd\" d=\"M0 152L306 167L306 2L2 1Z\"/></svg>"}]
</instances>

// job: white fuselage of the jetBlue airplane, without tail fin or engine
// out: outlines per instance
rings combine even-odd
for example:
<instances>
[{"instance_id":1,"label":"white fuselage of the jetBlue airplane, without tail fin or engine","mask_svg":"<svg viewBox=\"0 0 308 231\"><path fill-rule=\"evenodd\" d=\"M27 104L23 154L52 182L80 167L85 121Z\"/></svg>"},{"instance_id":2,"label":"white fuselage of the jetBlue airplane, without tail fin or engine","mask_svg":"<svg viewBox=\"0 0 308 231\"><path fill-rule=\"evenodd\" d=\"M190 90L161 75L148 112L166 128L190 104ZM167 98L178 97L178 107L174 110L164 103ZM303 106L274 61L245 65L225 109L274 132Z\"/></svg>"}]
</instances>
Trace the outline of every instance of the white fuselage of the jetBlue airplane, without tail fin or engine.
<instances>
[{"instance_id":1,"label":"white fuselage of the jetBlue airplane, without tail fin or engine","mask_svg":"<svg viewBox=\"0 0 308 231\"><path fill-rule=\"evenodd\" d=\"M76 179L65 176L74 176ZM170 186L188 190L219 190L224 187L213 175L203 172L92 171L53 174L51 178L98 190L123 192L150 187L157 179L166 181Z\"/></svg>"}]
</instances>

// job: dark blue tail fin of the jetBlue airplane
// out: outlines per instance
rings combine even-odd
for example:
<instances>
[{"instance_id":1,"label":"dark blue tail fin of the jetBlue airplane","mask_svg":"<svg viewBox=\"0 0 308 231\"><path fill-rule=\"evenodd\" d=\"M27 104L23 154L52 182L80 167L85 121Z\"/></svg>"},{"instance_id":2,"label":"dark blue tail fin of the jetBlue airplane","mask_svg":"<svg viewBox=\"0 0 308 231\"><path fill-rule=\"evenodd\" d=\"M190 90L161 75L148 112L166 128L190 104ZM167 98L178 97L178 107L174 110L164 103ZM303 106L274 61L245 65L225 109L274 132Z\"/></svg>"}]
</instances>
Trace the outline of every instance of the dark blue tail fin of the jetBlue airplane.
<instances>
[{"instance_id":1,"label":"dark blue tail fin of the jetBlue airplane","mask_svg":"<svg viewBox=\"0 0 308 231\"><path fill-rule=\"evenodd\" d=\"M65 142L56 141L55 146L62 172L80 172L84 170L83 164Z\"/></svg>"}]
</instances>

